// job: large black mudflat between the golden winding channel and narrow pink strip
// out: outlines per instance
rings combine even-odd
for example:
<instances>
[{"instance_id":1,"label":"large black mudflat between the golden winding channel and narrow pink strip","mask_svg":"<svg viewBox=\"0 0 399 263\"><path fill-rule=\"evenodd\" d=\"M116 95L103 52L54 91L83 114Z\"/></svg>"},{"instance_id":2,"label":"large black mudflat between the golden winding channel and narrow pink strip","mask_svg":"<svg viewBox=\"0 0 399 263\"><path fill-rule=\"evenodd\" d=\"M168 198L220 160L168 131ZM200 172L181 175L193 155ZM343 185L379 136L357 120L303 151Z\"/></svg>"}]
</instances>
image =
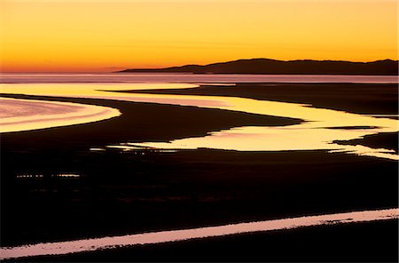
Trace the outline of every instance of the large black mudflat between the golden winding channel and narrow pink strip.
<instances>
[{"instance_id":1,"label":"large black mudflat between the golden winding channel and narrow pink strip","mask_svg":"<svg viewBox=\"0 0 399 263\"><path fill-rule=\"evenodd\" d=\"M89 150L126 141L203 136L207 131L241 125L298 124L299 120L151 103L5 96L108 106L119 108L122 116L92 124L2 134L2 246L398 205L397 162L386 159L324 151ZM58 173L75 173L81 177L52 176ZM21 174L43 174L43 178L17 178ZM392 243L381 246L379 237L382 234L375 229L387 233L381 230L384 227L370 227L368 245L375 250L365 252L364 255L370 255L367 261L381 261L387 259L387 254L397 254L397 247ZM396 228L391 225L389 229ZM306 228L301 231L303 234L298 236L309 236L302 241L302 246L316 243L311 242L312 236L322 236L317 235L319 230L311 230L309 234ZM343 239L346 231L341 232ZM353 228L348 233L357 231ZM285 243L289 244L290 240L286 240L286 234L278 234L281 236L278 239L269 239L266 235L269 234L255 235L254 239L250 235L237 237L234 245L245 243L240 247L242 258L238 260L246 260L246 251L249 253L254 246L259 246L258 240L270 240L269 243L280 240L274 247L274 255L287 253ZM361 236L359 240L364 242ZM193 242L202 243L198 248L207 247L207 240ZM212 242L223 245L224 251L228 251L229 241L224 243L220 238ZM141 253L141 259L151 261L153 258L146 255L154 249L154 253L160 253L156 260L173 261L161 256L162 250L168 251L169 244L164 245L163 248L139 247L137 250L142 251L137 253ZM197 247L196 243L176 245L187 246L188 251L193 252ZM334 248L334 253L343 259L354 255L345 247ZM98 251L98 255L101 253ZM204 256L198 258L197 254L187 252L189 258L182 259L205 260L207 256L216 259L218 255L215 248L201 253ZM331 257L328 253L315 253L313 258L309 253L309 259ZM119 259L124 260L124 255L129 254L129 251L121 251ZM97 252L87 257L96 261L96 255ZM364 259L362 257L356 259ZM301 256L293 254L293 260L296 259Z\"/></svg>"}]
</instances>

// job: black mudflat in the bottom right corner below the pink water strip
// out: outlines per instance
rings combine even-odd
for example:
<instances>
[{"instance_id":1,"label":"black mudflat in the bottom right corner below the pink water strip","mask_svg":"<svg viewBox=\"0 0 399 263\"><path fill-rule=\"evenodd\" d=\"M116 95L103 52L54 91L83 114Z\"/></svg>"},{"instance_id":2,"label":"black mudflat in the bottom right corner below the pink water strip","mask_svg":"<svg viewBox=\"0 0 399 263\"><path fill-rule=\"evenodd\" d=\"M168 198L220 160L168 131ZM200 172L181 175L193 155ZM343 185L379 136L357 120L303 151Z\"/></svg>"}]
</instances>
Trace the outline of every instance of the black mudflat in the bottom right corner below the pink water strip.
<instances>
[{"instance_id":1,"label":"black mudflat in the bottom right corner below the pink water strip","mask_svg":"<svg viewBox=\"0 0 399 263\"><path fill-rule=\"evenodd\" d=\"M29 261L397 262L397 231L397 221L389 220L149 244Z\"/></svg>"}]
</instances>

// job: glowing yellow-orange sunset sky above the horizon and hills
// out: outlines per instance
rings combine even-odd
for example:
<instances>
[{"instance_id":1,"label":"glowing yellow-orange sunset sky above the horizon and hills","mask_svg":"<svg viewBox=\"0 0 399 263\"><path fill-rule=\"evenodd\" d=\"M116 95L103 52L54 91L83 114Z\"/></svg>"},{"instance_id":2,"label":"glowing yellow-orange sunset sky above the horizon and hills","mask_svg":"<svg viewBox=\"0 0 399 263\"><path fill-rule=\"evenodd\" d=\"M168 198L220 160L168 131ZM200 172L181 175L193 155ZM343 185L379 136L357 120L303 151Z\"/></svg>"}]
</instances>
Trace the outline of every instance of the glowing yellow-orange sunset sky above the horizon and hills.
<instances>
[{"instance_id":1,"label":"glowing yellow-orange sunset sky above the horizon and hills","mask_svg":"<svg viewBox=\"0 0 399 263\"><path fill-rule=\"evenodd\" d=\"M389 0L0 0L0 70L397 60L397 12Z\"/></svg>"}]
</instances>

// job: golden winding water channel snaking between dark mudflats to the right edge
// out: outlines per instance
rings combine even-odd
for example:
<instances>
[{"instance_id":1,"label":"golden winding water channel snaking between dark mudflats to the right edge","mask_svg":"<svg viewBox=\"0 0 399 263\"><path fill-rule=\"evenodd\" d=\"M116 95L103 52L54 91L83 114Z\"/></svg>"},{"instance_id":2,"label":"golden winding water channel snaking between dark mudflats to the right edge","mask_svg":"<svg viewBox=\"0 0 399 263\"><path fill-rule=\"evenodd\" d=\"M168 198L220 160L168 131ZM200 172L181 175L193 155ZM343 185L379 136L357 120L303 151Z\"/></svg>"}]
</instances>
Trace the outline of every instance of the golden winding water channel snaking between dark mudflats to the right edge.
<instances>
[{"instance_id":1,"label":"golden winding water channel snaking between dark mudflats to the right edge","mask_svg":"<svg viewBox=\"0 0 399 263\"><path fill-rule=\"evenodd\" d=\"M176 139L170 142L145 142L141 147L162 149L195 149L199 147L243 151L279 151L325 149L399 159L387 149L337 145L333 140L359 139L365 135L399 130L398 121L384 117L362 116L343 111L311 108L307 105L267 100L252 100L221 96L192 96L165 94L134 94L116 92L158 87L191 88L194 84L1 84L4 93L52 95L63 97L98 98L155 102L201 108L220 108L252 114L291 117L304 120L302 124L280 127L237 127L215 131L201 138ZM107 92L104 92L104 91ZM160 113L161 114L161 113ZM342 129L346 127L349 129ZM351 129L351 127L355 127ZM123 142L126 143L126 142ZM126 145L119 146L126 148Z\"/></svg>"}]
</instances>

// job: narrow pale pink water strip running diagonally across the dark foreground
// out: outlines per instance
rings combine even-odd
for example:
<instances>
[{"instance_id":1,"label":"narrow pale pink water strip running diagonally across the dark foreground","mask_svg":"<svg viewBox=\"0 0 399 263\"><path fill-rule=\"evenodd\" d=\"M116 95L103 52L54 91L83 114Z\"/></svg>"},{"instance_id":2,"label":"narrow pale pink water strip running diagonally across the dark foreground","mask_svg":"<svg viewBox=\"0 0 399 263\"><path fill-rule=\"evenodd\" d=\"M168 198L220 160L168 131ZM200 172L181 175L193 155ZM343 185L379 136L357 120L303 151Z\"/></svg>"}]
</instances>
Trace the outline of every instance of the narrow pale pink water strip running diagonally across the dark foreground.
<instances>
[{"instance_id":1,"label":"narrow pale pink water strip running diagonally across the dark foreground","mask_svg":"<svg viewBox=\"0 0 399 263\"><path fill-rule=\"evenodd\" d=\"M43 255L61 255L82 251L97 251L137 244L166 243L210 236L264 232L298 227L322 226L342 223L398 219L397 208L378 211L352 211L344 213L275 219L218 227L200 227L183 230L160 231L136 235L107 236L57 243L36 243L0 249L0 259L13 259Z\"/></svg>"}]
</instances>

